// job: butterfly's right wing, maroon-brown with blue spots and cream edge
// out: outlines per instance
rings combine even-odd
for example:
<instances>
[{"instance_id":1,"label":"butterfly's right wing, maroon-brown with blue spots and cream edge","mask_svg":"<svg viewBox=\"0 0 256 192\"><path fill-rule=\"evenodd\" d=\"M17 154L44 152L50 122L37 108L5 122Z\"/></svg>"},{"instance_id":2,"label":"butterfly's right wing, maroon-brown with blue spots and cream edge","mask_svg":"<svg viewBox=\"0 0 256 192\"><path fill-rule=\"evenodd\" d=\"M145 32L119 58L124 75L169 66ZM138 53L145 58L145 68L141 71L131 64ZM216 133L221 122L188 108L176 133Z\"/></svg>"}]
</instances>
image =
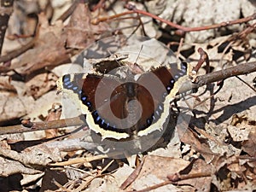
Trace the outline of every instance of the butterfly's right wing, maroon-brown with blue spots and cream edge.
<instances>
[{"instance_id":1,"label":"butterfly's right wing, maroon-brown with blue spots and cream edge","mask_svg":"<svg viewBox=\"0 0 256 192\"><path fill-rule=\"evenodd\" d=\"M185 74L186 66L181 69L158 67L137 80L137 99L143 105L143 115L138 123L139 136L162 129L169 117L170 93L175 82Z\"/></svg>"}]
</instances>

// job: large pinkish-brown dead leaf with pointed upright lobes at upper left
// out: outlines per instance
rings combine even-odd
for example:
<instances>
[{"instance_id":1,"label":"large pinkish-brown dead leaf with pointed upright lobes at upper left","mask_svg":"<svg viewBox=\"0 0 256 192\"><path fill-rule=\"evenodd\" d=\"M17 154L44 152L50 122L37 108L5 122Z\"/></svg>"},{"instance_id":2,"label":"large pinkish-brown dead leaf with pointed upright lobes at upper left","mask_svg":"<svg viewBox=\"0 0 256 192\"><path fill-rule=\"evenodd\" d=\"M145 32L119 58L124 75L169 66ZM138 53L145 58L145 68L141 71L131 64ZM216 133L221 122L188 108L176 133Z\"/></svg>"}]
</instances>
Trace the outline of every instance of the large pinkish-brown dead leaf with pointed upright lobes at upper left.
<instances>
[{"instance_id":1,"label":"large pinkish-brown dead leaf with pointed upright lobes at upper left","mask_svg":"<svg viewBox=\"0 0 256 192\"><path fill-rule=\"evenodd\" d=\"M33 49L29 49L20 55L18 61L10 66L21 75L30 74L44 67L59 65L69 58L68 50L65 49L65 34L62 32L63 25L59 20L54 26L49 26L46 16L38 15L38 38Z\"/></svg>"}]
</instances>

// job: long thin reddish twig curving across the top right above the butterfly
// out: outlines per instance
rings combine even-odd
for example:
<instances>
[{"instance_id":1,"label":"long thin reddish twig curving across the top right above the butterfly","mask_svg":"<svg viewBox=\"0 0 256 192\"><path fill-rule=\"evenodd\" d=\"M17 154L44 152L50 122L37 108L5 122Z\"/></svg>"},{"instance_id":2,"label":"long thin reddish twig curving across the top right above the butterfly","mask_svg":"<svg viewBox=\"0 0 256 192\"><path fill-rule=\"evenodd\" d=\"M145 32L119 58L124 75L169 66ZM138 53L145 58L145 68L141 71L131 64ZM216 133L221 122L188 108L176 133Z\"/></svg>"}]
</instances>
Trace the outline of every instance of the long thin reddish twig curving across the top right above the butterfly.
<instances>
[{"instance_id":1,"label":"long thin reddish twig curving across the top right above the butterfly","mask_svg":"<svg viewBox=\"0 0 256 192\"><path fill-rule=\"evenodd\" d=\"M147 11L136 9L136 7L131 5L131 4L126 5L126 8L129 9L129 11L125 11L123 13L108 16L108 17L97 18L96 20L92 20L92 23L96 25L99 22L106 21L106 20L113 20L113 19L118 18L120 16L130 15L130 14L140 14L140 15L149 16L149 17L151 17L155 20L160 20L161 22L166 23L168 26L172 26L172 27L177 28L177 29L179 29L180 31L183 31L183 32L198 32L198 31L203 31L203 30L215 29L215 28L219 28L219 27L222 27L222 26L232 26L232 25L235 25L235 24L240 24L240 23L247 22L249 20L255 20L256 19L256 13L255 13L253 15L247 16L247 17L239 19L239 20L225 21L225 22L221 22L221 23L218 23L218 24L213 24L211 26L187 27L187 26L177 25L176 23L173 23L169 20L164 20L164 19L160 18L157 15L153 15L153 14L148 13Z\"/></svg>"}]
</instances>

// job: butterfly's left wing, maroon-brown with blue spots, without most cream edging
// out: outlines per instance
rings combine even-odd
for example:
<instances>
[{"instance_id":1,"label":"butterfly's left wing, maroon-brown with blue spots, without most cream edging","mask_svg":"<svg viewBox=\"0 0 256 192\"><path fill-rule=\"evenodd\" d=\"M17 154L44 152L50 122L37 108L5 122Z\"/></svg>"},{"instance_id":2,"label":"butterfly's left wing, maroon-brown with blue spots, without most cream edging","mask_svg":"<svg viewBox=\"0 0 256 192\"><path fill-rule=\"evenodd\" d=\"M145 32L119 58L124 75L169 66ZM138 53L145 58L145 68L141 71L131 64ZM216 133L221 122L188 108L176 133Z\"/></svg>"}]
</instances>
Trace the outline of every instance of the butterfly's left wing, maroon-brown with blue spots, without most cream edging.
<instances>
[{"instance_id":1,"label":"butterfly's left wing, maroon-brown with blue spots, without most cream edging","mask_svg":"<svg viewBox=\"0 0 256 192\"><path fill-rule=\"evenodd\" d=\"M62 77L62 84L64 89L72 90L73 94L79 96L80 102L86 107L84 115L92 115L94 123L90 123L90 129L100 133L103 130L113 131L113 137L116 132L128 132L122 129L119 121L126 113L126 91L117 77L95 73L67 74ZM102 128L102 132L98 127Z\"/></svg>"}]
</instances>

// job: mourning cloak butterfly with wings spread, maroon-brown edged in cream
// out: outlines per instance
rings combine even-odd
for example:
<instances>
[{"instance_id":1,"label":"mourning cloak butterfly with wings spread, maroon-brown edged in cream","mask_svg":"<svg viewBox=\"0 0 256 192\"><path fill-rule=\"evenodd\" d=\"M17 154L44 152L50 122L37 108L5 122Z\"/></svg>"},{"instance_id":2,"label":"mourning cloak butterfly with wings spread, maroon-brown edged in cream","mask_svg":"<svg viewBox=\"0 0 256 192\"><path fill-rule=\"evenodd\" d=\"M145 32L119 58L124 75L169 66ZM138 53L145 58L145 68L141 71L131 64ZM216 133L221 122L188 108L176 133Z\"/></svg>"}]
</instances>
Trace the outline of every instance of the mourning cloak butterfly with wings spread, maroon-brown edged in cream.
<instances>
[{"instance_id":1,"label":"mourning cloak butterfly with wings spread, maroon-brown edged in cream","mask_svg":"<svg viewBox=\"0 0 256 192\"><path fill-rule=\"evenodd\" d=\"M143 137L161 131L187 66L160 66L138 79L131 71L73 73L58 80L58 90L77 102L86 124L102 138Z\"/></svg>"}]
</instances>

